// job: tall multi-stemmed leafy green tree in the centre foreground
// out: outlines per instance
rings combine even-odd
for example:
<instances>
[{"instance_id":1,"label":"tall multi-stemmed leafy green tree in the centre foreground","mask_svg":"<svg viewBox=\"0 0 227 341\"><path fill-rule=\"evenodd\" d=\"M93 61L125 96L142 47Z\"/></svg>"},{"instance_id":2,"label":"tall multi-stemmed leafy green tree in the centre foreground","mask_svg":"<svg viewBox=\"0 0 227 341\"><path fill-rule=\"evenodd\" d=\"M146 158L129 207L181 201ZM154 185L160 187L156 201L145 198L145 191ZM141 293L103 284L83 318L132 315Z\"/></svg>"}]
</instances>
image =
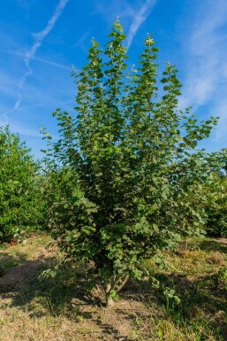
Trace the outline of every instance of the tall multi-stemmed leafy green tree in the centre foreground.
<instances>
[{"instance_id":1,"label":"tall multi-stemmed leafy green tree in the centre foreground","mask_svg":"<svg viewBox=\"0 0 227 341\"><path fill-rule=\"evenodd\" d=\"M178 111L175 66L167 63L158 87L152 36L131 73L119 22L109 37L104 51L93 40L73 73L76 114L54 112L59 141L45 132L49 226L66 257L94 262L107 305L128 276L140 279L143 260L201 233L200 186L223 158L195 150L217 120Z\"/></svg>"}]
</instances>

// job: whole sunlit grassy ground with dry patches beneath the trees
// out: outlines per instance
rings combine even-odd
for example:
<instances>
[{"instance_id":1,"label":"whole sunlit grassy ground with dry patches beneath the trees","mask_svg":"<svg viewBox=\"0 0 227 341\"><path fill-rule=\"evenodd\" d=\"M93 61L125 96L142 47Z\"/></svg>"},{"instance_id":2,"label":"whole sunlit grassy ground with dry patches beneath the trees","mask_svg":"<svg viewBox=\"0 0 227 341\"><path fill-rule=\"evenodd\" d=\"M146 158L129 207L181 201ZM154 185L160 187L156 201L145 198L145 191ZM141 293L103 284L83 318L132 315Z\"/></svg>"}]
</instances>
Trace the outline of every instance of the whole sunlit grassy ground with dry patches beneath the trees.
<instances>
[{"instance_id":1,"label":"whole sunlit grassy ground with dry patches beneath the trees","mask_svg":"<svg viewBox=\"0 0 227 341\"><path fill-rule=\"evenodd\" d=\"M227 339L227 244L209 238L180 244L165 255L163 270L148 260L149 275L127 283L116 306L106 309L95 297L100 292L86 290L92 283L84 265L68 264L55 277L38 279L57 262L53 251L40 255L49 241L34 236L0 252L5 274L23 264L33 269L11 290L0 286L0 341ZM152 276L163 288L152 287Z\"/></svg>"}]
</instances>

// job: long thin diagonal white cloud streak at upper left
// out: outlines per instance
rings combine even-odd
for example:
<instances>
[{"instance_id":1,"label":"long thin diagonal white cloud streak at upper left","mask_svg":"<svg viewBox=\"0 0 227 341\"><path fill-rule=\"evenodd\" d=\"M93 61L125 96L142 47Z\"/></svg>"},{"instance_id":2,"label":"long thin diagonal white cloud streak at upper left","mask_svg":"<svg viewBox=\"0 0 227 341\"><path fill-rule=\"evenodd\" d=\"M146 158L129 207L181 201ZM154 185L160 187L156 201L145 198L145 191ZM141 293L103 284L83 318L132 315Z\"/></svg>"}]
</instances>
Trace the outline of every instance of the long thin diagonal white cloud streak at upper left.
<instances>
[{"instance_id":1,"label":"long thin diagonal white cloud streak at upper left","mask_svg":"<svg viewBox=\"0 0 227 341\"><path fill-rule=\"evenodd\" d=\"M34 44L30 50L26 52L26 56L24 58L24 62L26 65L26 73L23 75L19 82L19 97L18 100L16 101L14 105L14 109L17 110L19 108L19 105L21 104L22 101L22 90L24 88L26 78L32 74L32 68L30 66L30 62L32 59L34 59L35 54L37 50L41 47L43 39L49 35L49 32L55 27L57 19L61 16L62 12L64 11L65 5L68 3L69 0L60 0L57 4L57 7L53 14L51 15L47 26L41 31L36 34L34 34Z\"/></svg>"}]
</instances>

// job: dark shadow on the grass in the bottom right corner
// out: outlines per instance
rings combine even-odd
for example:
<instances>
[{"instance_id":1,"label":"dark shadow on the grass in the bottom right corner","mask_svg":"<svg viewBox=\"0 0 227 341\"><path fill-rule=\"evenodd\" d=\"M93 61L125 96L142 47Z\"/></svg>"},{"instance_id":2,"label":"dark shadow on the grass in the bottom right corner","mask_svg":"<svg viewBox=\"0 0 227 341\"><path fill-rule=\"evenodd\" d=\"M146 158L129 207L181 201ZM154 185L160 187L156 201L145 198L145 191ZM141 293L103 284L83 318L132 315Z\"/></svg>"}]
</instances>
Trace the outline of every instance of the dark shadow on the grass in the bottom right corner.
<instances>
[{"instance_id":1,"label":"dark shadow on the grass in the bottom right corner","mask_svg":"<svg viewBox=\"0 0 227 341\"><path fill-rule=\"evenodd\" d=\"M163 291L155 291L159 304L166 307L173 322L184 329L193 322L198 326L201 324L202 340L207 339L207 329L216 329L218 335L227 340L227 291L218 275L203 275L190 280L186 275L158 274L156 278L181 299L178 305L174 298L164 296Z\"/></svg>"}]
</instances>

